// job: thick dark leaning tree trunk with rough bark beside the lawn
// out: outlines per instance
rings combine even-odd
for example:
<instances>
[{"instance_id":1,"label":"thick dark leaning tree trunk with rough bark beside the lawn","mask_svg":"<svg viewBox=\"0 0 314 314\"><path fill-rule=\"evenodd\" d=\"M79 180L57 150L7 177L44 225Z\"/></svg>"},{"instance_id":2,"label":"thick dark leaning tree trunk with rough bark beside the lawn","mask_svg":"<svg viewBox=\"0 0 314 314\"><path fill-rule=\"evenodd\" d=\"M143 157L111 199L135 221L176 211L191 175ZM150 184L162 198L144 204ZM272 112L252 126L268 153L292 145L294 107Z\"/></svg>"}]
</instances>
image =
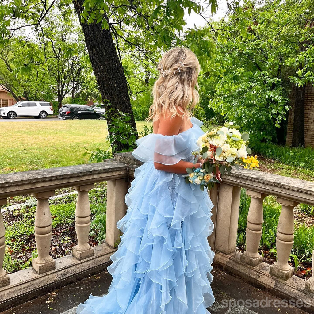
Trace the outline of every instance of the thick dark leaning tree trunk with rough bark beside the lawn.
<instances>
[{"instance_id":1,"label":"thick dark leaning tree trunk with rough bark beside the lawn","mask_svg":"<svg viewBox=\"0 0 314 314\"><path fill-rule=\"evenodd\" d=\"M73 0L73 5L81 23L80 14L83 11L82 0ZM110 30L103 30L101 24L95 22L92 24L81 23L81 26L102 100L104 103L106 99L110 101L110 104L107 105L108 108L129 114L131 116L129 124L136 131L136 124L127 89L127 80ZM109 125L110 123L111 119L109 116L107 117L107 124ZM109 132L109 135L113 134ZM128 144L122 144L119 141L111 141L111 146L113 144L116 145L117 151L130 148Z\"/></svg>"}]
</instances>

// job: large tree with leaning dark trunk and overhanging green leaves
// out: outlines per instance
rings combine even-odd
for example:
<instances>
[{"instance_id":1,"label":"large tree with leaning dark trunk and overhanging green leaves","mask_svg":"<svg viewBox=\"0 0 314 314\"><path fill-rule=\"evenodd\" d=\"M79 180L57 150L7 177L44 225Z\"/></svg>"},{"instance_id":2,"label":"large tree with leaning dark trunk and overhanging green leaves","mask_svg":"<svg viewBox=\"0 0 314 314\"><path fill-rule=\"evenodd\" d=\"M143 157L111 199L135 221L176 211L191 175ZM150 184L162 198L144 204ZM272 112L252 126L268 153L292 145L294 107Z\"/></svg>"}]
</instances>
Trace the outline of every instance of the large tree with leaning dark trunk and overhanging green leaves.
<instances>
[{"instance_id":1,"label":"large tree with leaning dark trunk and overhanging green leaves","mask_svg":"<svg viewBox=\"0 0 314 314\"><path fill-rule=\"evenodd\" d=\"M42 22L54 3L55 0L44 4L39 0L30 0L25 3L25 6L21 6L19 0L5 2L0 10L0 44L7 42L15 31L25 25L31 25L35 32L40 33ZM201 63L206 68L205 60L211 54L212 41L208 38L204 40L202 30L191 29L185 32L183 28L186 24L185 8L188 14L192 10L197 14L203 11L203 7L196 1L114 0L107 3L103 0L84 2L73 0L73 5L80 19L102 98L109 100L108 106L113 109L131 115L130 125L133 131L136 130L136 126L121 65L119 40L129 45L131 50L142 51L146 57L149 57L147 51L150 50L168 49L172 45L188 46L198 53ZM214 13L217 9L217 0L207 0L204 5L210 6L211 12ZM56 8L61 11L67 10L67 1L58 2ZM14 24L16 20L22 25L16 26ZM111 122L110 116L108 122ZM114 144L112 146L118 147L119 150L128 148L127 143Z\"/></svg>"}]
</instances>

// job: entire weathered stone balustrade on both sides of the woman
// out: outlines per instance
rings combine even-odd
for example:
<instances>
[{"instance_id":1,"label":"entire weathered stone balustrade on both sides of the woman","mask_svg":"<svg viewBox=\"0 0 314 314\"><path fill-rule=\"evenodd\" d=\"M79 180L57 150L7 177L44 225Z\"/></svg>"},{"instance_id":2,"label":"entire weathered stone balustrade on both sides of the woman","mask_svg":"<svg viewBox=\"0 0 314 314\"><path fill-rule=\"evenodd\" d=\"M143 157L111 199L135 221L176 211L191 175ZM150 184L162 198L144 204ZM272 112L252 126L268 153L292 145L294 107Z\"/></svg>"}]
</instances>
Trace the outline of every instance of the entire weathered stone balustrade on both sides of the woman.
<instances>
[{"instance_id":1,"label":"entire weathered stone balustrade on both sides of the woman","mask_svg":"<svg viewBox=\"0 0 314 314\"><path fill-rule=\"evenodd\" d=\"M0 311L16 304L17 300L21 302L37 296L38 291L43 293L96 273L110 263L110 255L120 240L116 222L126 213L125 195L140 164L130 153L118 153L114 159L103 163L0 176L0 208L12 196L33 194L37 199L34 223L38 251L31 270L8 275L2 268L5 230L0 213ZM90 247L88 192L96 182L102 181L107 181L106 243ZM78 244L73 247L71 256L52 259L49 255L52 230L49 198L57 188L63 187L73 187L78 192L75 210ZM243 253L236 248L241 188L246 188L246 194L251 197L246 251ZM282 205L276 237L278 258L273 265L263 263L258 251L263 227L263 199L268 195L276 196ZM314 183L239 169L223 175L222 183L215 185L210 197L214 203L211 217L214 231L208 241L215 251L215 263L257 286L277 291L279 296L312 299L314 309L314 276L306 281L293 276L292 280L293 269L288 263L294 238L293 209L299 203L314 205Z\"/></svg>"}]
</instances>

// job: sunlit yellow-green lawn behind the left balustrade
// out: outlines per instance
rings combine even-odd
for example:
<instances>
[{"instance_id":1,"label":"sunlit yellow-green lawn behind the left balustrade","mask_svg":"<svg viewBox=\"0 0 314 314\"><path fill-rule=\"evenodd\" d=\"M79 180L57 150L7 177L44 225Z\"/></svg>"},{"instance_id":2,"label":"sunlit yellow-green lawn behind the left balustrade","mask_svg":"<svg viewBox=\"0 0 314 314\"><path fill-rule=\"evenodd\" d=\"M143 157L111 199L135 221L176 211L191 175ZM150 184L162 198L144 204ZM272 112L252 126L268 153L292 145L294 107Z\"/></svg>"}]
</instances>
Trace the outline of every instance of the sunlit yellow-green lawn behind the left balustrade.
<instances>
[{"instance_id":1,"label":"sunlit yellow-green lawn behind the left balustrade","mask_svg":"<svg viewBox=\"0 0 314 314\"><path fill-rule=\"evenodd\" d=\"M136 122L138 131L151 123ZM82 154L110 147L104 120L1 122L0 173L87 163Z\"/></svg>"}]
</instances>

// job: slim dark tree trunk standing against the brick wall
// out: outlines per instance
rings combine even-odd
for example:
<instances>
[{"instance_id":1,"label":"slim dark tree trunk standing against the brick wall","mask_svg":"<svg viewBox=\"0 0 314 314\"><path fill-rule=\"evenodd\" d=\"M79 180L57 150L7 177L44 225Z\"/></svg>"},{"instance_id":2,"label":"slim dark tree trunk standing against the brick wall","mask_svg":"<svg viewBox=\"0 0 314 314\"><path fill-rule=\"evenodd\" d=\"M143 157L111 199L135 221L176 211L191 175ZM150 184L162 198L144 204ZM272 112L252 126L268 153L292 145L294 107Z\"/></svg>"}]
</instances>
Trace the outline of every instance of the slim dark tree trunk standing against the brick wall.
<instances>
[{"instance_id":1,"label":"slim dark tree trunk standing against the brick wall","mask_svg":"<svg viewBox=\"0 0 314 314\"><path fill-rule=\"evenodd\" d=\"M292 147L305 146L304 141L305 89L306 85L303 85L302 87L295 87L295 108L291 142Z\"/></svg>"}]
</instances>

